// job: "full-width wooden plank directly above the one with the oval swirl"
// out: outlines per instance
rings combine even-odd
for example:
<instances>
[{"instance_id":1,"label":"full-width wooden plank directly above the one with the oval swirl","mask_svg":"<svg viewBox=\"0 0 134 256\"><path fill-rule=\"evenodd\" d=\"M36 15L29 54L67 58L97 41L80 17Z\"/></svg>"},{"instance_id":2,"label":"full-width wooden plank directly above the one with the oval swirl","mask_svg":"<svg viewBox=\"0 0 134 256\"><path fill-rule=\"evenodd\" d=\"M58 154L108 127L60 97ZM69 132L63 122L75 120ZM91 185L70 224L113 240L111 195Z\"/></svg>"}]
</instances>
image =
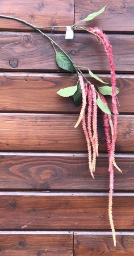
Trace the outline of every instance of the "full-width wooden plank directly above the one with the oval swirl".
<instances>
[{"instance_id":1,"label":"full-width wooden plank directly above the one with the oval swirl","mask_svg":"<svg viewBox=\"0 0 134 256\"><path fill-rule=\"evenodd\" d=\"M0 114L0 150L87 151L77 114ZM98 118L99 150L106 151L102 118ZM133 152L133 115L118 117L117 152Z\"/></svg>"}]
</instances>

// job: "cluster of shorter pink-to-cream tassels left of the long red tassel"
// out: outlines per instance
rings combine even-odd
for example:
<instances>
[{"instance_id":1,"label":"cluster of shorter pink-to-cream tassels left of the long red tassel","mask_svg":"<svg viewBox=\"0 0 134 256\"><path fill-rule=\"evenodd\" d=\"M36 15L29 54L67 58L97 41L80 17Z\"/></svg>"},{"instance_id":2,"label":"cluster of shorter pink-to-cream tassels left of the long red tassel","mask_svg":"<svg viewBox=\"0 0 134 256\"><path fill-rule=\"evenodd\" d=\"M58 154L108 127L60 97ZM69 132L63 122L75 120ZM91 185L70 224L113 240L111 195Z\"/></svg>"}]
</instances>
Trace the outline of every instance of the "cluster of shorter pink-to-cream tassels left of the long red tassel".
<instances>
[{"instance_id":1,"label":"cluster of shorter pink-to-cream tassels left of the long red tassel","mask_svg":"<svg viewBox=\"0 0 134 256\"><path fill-rule=\"evenodd\" d=\"M97 96L95 86L89 81L85 82L83 76L79 75L79 82L82 91L82 108L79 114L75 128L82 120L82 127L87 142L87 150L89 153L89 170L94 178L96 158L98 156L98 133L97 133ZM88 102L87 119L86 105Z\"/></svg>"}]
</instances>

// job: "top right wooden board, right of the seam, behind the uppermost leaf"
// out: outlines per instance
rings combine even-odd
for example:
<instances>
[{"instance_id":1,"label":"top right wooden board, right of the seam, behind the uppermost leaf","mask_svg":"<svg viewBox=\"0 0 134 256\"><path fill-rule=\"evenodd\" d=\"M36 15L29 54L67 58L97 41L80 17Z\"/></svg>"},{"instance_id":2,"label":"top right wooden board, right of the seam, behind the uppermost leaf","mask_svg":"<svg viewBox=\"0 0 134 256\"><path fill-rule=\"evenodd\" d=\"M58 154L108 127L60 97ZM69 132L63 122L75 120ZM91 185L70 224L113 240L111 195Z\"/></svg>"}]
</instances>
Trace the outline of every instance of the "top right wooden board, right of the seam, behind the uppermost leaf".
<instances>
[{"instance_id":1,"label":"top right wooden board, right of the seam, behind the uppermost leaf","mask_svg":"<svg viewBox=\"0 0 134 256\"><path fill-rule=\"evenodd\" d=\"M97 16L90 22L81 22L79 26L100 27L105 31L133 32L134 20L132 0L76 0L75 1L75 23L86 18L90 13L100 10L104 5L107 6L104 13Z\"/></svg>"}]
</instances>

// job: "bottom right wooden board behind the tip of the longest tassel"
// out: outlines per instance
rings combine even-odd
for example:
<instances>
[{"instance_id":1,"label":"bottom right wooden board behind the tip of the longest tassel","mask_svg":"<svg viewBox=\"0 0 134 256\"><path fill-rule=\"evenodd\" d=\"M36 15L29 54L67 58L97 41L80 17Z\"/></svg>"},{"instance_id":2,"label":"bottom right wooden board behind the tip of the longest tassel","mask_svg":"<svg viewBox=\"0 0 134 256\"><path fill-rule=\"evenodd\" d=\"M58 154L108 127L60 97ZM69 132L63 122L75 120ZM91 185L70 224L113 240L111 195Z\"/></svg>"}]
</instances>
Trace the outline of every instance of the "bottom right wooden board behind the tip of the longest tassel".
<instances>
[{"instance_id":1,"label":"bottom right wooden board behind the tip of the longest tassel","mask_svg":"<svg viewBox=\"0 0 134 256\"><path fill-rule=\"evenodd\" d=\"M134 233L118 234L116 236L116 247L114 247L111 234L106 232L96 234L75 233L74 234L74 255L75 256L96 256L96 255L120 255L131 256L134 251Z\"/></svg>"}]
</instances>

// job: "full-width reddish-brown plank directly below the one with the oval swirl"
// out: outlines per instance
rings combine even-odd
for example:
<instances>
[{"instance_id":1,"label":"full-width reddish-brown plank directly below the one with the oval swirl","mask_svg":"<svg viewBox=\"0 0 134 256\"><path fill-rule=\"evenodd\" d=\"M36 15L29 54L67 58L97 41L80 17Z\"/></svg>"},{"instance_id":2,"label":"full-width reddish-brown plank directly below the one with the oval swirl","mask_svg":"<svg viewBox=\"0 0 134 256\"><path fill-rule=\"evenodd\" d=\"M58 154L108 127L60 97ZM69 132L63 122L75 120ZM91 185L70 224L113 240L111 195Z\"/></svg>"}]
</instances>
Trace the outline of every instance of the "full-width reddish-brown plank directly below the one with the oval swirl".
<instances>
[{"instance_id":1,"label":"full-width reddish-brown plank directly below the one with the oval swirl","mask_svg":"<svg viewBox=\"0 0 134 256\"><path fill-rule=\"evenodd\" d=\"M133 230L134 194L114 196L116 230ZM1 192L0 229L110 230L108 193Z\"/></svg>"}]
</instances>

